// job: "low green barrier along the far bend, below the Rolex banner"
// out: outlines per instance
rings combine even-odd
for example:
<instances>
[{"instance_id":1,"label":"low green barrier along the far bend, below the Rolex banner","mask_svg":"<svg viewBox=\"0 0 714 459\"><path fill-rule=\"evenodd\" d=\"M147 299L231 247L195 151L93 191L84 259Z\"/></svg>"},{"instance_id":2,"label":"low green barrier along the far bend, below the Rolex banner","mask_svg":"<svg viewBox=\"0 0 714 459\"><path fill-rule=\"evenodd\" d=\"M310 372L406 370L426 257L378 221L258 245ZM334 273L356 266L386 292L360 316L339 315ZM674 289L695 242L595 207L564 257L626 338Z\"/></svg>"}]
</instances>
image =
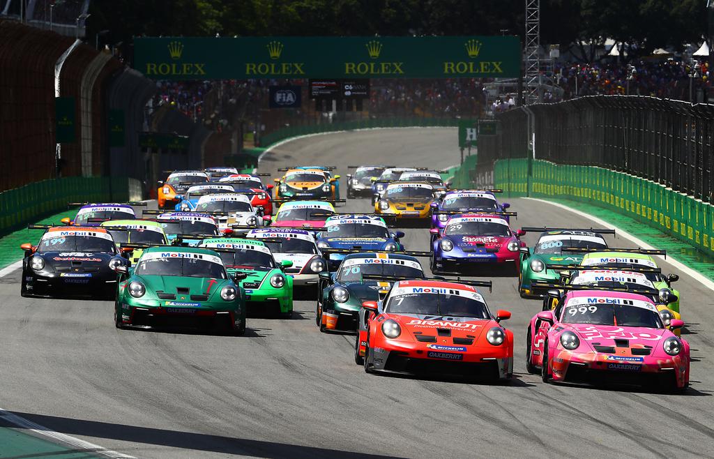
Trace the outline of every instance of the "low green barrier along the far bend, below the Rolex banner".
<instances>
[{"instance_id":1,"label":"low green barrier along the far bend, below the Rolex banner","mask_svg":"<svg viewBox=\"0 0 714 459\"><path fill-rule=\"evenodd\" d=\"M319 132L352 131L366 128L406 128L406 127L458 126L458 119L451 118L376 118L354 121L337 121L334 123L311 124L306 126L290 126L280 128L261 138L261 146L271 146L285 138L304 136Z\"/></svg>"}]
</instances>

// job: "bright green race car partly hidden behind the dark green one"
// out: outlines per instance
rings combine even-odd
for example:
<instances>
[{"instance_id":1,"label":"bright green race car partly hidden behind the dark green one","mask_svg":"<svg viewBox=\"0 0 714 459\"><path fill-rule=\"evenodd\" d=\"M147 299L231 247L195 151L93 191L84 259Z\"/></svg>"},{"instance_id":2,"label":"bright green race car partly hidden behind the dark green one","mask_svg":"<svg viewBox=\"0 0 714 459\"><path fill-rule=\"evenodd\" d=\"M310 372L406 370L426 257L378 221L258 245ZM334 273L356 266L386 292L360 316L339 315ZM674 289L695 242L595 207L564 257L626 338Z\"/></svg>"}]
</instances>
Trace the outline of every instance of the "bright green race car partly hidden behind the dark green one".
<instances>
[{"instance_id":1,"label":"bright green race car partly hidden behind the dark green one","mask_svg":"<svg viewBox=\"0 0 714 459\"><path fill-rule=\"evenodd\" d=\"M277 312L279 316L292 318L293 278L283 272L293 266L292 261L276 262L270 248L256 239L208 238L199 247L215 248L228 273L246 276L241 287L246 291L246 306L251 312L261 315Z\"/></svg>"}]
</instances>

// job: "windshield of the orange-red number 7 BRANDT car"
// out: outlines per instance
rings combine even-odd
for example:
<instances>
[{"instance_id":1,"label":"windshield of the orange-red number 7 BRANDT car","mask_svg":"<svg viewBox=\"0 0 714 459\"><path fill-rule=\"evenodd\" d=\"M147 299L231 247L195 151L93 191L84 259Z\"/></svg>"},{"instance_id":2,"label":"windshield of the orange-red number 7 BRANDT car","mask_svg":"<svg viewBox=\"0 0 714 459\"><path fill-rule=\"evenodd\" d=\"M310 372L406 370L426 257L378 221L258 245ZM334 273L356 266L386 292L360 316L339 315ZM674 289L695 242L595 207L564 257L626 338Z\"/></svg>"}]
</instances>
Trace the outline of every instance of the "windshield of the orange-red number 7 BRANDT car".
<instances>
[{"instance_id":1,"label":"windshield of the orange-red number 7 BRANDT car","mask_svg":"<svg viewBox=\"0 0 714 459\"><path fill-rule=\"evenodd\" d=\"M407 293L389 298L386 313L488 319L485 303L445 293Z\"/></svg>"}]
</instances>

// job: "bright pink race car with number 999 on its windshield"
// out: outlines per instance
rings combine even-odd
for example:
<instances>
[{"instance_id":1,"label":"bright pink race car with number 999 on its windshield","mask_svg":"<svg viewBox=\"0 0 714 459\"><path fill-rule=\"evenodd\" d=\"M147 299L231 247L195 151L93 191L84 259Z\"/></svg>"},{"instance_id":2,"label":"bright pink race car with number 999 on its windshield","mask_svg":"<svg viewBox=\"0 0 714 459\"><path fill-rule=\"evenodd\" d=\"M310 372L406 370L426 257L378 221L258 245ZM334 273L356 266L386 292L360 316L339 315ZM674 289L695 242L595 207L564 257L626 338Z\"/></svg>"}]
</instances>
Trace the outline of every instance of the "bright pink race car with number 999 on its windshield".
<instances>
[{"instance_id":1,"label":"bright pink race car with number 999 on its windshield","mask_svg":"<svg viewBox=\"0 0 714 459\"><path fill-rule=\"evenodd\" d=\"M548 294L558 296L558 306L531 319L529 373L540 367L543 382L654 384L670 391L689 385L689 343L672 332L684 323L673 319L666 327L647 296L604 289Z\"/></svg>"}]
</instances>

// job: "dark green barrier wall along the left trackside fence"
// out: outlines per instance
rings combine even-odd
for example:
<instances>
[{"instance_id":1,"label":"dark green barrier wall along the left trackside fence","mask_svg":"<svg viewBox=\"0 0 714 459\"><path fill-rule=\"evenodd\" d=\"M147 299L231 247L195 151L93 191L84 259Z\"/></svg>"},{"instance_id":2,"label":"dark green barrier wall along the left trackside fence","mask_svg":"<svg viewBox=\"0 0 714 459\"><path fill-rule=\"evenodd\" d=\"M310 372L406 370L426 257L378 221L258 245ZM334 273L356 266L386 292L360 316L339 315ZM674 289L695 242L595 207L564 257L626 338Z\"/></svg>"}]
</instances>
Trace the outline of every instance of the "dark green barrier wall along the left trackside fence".
<instances>
[{"instance_id":1,"label":"dark green barrier wall along the left trackside fence","mask_svg":"<svg viewBox=\"0 0 714 459\"><path fill-rule=\"evenodd\" d=\"M136 194L136 185L136 180L126 177L66 177L3 191L0 193L0 234L63 211L67 203L124 202L141 198Z\"/></svg>"}]
</instances>

